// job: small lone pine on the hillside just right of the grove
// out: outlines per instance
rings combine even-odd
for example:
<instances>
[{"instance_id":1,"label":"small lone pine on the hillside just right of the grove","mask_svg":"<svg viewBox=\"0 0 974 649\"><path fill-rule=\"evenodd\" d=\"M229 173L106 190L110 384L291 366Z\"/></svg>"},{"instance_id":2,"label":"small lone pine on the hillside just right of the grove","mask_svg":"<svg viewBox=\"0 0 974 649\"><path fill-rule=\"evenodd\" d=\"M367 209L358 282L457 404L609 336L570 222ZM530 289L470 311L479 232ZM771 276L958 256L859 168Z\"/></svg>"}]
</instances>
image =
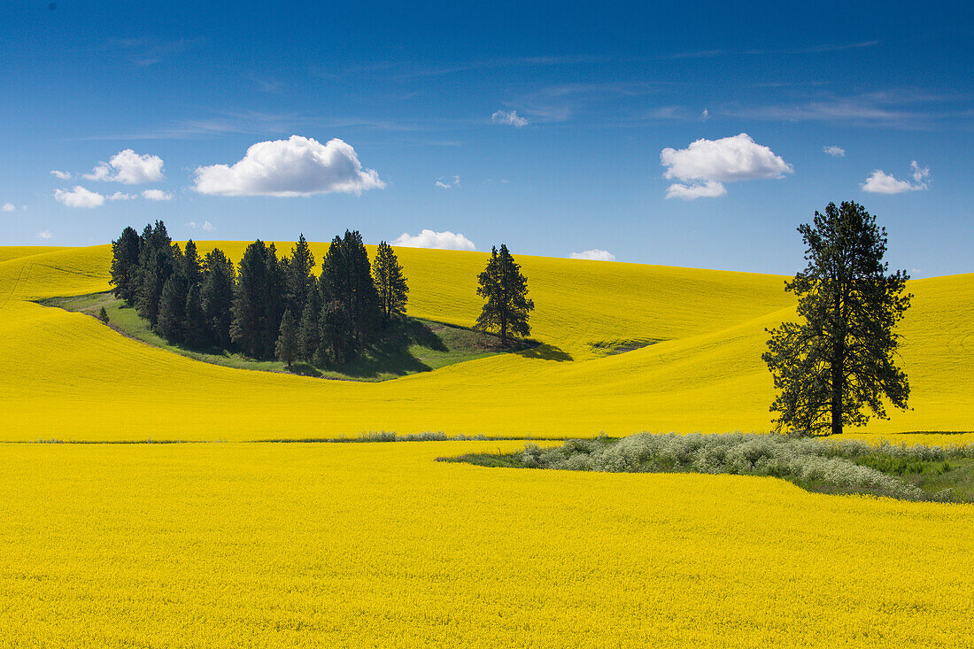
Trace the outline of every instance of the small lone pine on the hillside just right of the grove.
<instances>
[{"instance_id":1,"label":"small lone pine on the hillside just right of the grove","mask_svg":"<svg viewBox=\"0 0 974 649\"><path fill-rule=\"evenodd\" d=\"M507 346L507 336L527 336L531 333L528 317L535 303L527 297L528 281L521 274L521 267L514 262L506 245L491 250L487 268L477 278L477 295L486 302L477 318L474 329L496 330L501 334L501 344Z\"/></svg>"}]
</instances>

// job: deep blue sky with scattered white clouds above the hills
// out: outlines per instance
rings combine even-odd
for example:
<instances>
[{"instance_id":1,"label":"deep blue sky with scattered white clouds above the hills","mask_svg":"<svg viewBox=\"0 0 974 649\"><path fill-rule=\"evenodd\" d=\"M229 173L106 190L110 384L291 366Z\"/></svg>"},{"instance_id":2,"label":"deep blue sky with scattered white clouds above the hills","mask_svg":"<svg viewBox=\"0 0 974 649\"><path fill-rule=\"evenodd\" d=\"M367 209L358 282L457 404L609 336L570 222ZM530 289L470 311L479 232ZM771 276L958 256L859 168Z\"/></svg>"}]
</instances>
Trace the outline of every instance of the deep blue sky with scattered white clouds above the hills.
<instances>
[{"instance_id":1,"label":"deep blue sky with scattered white clouds above the hills","mask_svg":"<svg viewBox=\"0 0 974 649\"><path fill-rule=\"evenodd\" d=\"M0 245L162 218L793 273L855 200L894 267L974 270L971 3L792 4L12 0Z\"/></svg>"}]
</instances>

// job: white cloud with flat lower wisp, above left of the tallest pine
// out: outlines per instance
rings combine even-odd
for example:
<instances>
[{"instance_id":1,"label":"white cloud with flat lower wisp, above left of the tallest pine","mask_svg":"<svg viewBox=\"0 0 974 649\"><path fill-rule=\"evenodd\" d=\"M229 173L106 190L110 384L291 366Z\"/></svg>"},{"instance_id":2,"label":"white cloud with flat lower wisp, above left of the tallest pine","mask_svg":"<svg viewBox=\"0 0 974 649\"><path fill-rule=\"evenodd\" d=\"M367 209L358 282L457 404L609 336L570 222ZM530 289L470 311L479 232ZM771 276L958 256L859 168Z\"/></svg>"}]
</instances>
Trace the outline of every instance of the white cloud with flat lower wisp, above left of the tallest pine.
<instances>
[{"instance_id":1,"label":"white cloud with flat lower wisp, above left of the tallest pine","mask_svg":"<svg viewBox=\"0 0 974 649\"><path fill-rule=\"evenodd\" d=\"M659 153L663 176L678 179L666 191L666 198L693 200L723 196L725 182L780 178L794 170L767 146L746 133L721 139L698 139L686 149L667 147Z\"/></svg>"}]
</instances>

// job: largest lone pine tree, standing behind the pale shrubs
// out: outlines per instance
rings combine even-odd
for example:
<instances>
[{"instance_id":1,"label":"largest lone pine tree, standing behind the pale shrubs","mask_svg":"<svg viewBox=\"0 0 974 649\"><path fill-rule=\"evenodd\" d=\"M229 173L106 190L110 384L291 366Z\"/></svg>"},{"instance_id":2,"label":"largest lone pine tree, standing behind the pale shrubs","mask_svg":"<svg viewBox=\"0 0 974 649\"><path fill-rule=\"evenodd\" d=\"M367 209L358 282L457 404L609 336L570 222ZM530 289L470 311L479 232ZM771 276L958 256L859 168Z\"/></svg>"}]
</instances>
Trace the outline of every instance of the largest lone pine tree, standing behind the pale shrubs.
<instances>
[{"instance_id":1,"label":"largest lone pine tree, standing behind the pale shrubs","mask_svg":"<svg viewBox=\"0 0 974 649\"><path fill-rule=\"evenodd\" d=\"M813 223L798 228L808 265L785 284L805 322L768 330L762 358L778 390L770 407L777 430L838 435L870 413L887 418L883 400L907 407L910 385L894 364L900 336L893 327L910 306L903 294L910 278L887 273L886 230L862 206L830 203Z\"/></svg>"}]
</instances>

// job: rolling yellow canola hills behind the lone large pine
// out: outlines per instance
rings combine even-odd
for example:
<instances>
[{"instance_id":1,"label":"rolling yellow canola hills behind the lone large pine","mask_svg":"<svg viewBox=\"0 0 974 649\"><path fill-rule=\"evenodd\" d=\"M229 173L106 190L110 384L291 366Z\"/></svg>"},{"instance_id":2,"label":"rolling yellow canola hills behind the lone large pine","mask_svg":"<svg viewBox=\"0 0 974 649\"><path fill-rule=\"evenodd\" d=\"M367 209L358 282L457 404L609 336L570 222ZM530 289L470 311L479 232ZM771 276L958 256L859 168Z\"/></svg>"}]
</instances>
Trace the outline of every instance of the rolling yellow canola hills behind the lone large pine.
<instances>
[{"instance_id":1,"label":"rolling yellow canola hills behind the lone large pine","mask_svg":"<svg viewBox=\"0 0 974 649\"><path fill-rule=\"evenodd\" d=\"M200 245L213 246L239 258L245 243ZM325 248L314 245L318 259ZM0 439L767 431L765 327L794 317L780 276L516 255L542 347L379 384L324 381L198 363L29 301L107 289L110 254L108 246L0 248ZM472 324L485 253L397 254L411 315ZM918 280L910 290L901 331L913 410L856 433L974 430L974 275ZM625 341L655 344L600 351ZM972 440L962 438L951 436Z\"/></svg>"}]
</instances>

